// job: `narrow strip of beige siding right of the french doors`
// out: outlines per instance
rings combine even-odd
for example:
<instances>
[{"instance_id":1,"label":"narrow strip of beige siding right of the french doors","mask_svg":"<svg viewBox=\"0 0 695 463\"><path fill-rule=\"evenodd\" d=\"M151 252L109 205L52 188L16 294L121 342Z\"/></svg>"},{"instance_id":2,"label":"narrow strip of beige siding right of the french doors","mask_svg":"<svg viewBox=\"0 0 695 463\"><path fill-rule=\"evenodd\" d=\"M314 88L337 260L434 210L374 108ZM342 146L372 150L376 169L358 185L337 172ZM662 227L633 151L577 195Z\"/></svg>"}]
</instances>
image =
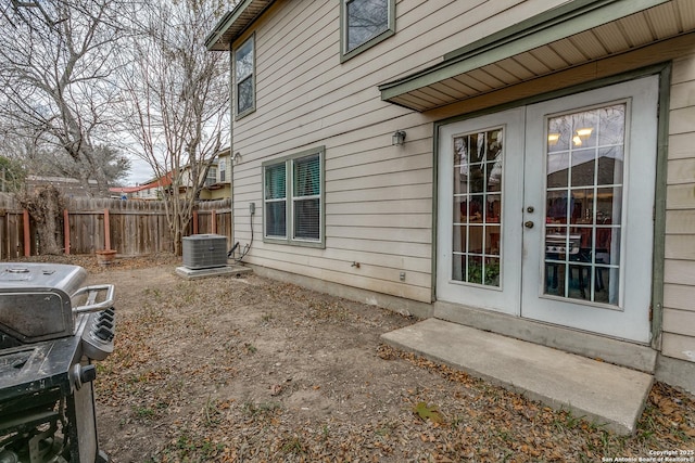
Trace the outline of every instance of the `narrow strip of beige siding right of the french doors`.
<instances>
[{"instance_id":1,"label":"narrow strip of beige siding right of the french doors","mask_svg":"<svg viewBox=\"0 0 695 463\"><path fill-rule=\"evenodd\" d=\"M661 353L695 362L695 50L673 61Z\"/></svg>"}]
</instances>

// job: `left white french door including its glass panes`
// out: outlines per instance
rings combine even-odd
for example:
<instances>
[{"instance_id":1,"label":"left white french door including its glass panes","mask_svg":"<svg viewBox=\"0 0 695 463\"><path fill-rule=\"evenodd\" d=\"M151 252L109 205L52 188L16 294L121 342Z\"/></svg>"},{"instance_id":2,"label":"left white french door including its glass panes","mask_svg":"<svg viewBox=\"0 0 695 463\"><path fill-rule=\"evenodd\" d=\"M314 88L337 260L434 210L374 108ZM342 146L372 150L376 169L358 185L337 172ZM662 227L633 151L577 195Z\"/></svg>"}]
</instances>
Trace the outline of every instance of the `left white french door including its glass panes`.
<instances>
[{"instance_id":1,"label":"left white french door including its glass panes","mask_svg":"<svg viewBox=\"0 0 695 463\"><path fill-rule=\"evenodd\" d=\"M515 108L440 128L441 300L519 314L523 113Z\"/></svg>"}]
</instances>

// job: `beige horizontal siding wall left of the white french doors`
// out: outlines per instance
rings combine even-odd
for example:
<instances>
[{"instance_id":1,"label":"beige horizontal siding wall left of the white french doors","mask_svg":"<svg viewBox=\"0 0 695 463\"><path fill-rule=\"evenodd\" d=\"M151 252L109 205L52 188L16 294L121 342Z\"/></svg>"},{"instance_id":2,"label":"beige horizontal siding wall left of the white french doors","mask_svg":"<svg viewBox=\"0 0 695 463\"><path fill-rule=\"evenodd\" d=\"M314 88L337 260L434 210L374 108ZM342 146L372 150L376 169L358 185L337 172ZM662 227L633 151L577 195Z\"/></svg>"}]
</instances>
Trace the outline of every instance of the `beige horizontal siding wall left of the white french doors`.
<instances>
[{"instance_id":1,"label":"beige horizontal siding wall left of the white french doors","mask_svg":"<svg viewBox=\"0 0 695 463\"><path fill-rule=\"evenodd\" d=\"M382 102L377 86L561 1L397 2L396 34L340 61L339 4L278 1L241 36L256 50L256 110L235 123L236 240L262 206L261 164L326 146L326 248L263 243L245 260L419 301L432 298L432 119ZM392 146L405 130L407 143ZM262 234L262 208L253 217ZM359 267L353 266L359 262ZM401 281L401 273L405 281Z\"/></svg>"}]
</instances>

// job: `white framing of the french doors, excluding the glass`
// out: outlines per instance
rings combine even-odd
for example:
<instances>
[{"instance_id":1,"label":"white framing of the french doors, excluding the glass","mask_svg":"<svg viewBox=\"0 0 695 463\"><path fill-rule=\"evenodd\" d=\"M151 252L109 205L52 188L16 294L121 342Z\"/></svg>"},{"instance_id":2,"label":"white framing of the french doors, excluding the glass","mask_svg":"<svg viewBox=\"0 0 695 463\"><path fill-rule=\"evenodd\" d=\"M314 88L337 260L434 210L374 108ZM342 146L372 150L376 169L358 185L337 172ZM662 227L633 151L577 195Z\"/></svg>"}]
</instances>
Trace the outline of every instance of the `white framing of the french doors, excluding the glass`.
<instances>
[{"instance_id":1,"label":"white framing of the french doors, excluding the glass","mask_svg":"<svg viewBox=\"0 0 695 463\"><path fill-rule=\"evenodd\" d=\"M639 343L650 340L649 304L654 252L658 76L617 83L597 90L529 106L483 115L439 127L437 299L495 310ZM614 101L629 101L623 196L620 304L614 308L547 297L541 285L541 248L544 247L546 115ZM453 139L491 127L504 127L503 268L498 290L452 280ZM539 157L541 156L541 157ZM646 158L646 163L631 162ZM525 170L526 169L526 170ZM538 169L534 173L532 170ZM533 176L536 177L533 177ZM535 179L535 180L533 180ZM446 194L446 192L450 192ZM526 196L525 196L526 195ZM533 204L531 204L533 203ZM644 218L648 205L648 220ZM534 213L527 207L532 206ZM627 219L624 219L628 217ZM525 221L538 227L528 229ZM630 228L630 229L629 229ZM637 230L637 232L635 232ZM642 256L631 249L647 249ZM544 253L543 253L544 255ZM514 266L517 266L515 269ZM634 287L633 287L634 286ZM627 291L626 291L627 290Z\"/></svg>"}]
</instances>

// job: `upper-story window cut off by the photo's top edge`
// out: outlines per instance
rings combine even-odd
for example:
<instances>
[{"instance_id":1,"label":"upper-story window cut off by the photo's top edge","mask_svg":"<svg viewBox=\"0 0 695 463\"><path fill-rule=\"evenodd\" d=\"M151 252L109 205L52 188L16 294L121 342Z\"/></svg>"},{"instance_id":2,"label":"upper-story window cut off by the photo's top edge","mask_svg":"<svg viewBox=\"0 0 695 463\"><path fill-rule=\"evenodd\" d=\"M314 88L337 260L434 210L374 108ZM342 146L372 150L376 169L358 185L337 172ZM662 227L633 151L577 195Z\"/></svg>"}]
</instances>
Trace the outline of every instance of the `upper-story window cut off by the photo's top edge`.
<instances>
[{"instance_id":1,"label":"upper-story window cut off by the photo's top edge","mask_svg":"<svg viewBox=\"0 0 695 463\"><path fill-rule=\"evenodd\" d=\"M395 0L341 0L340 16L343 61L395 34Z\"/></svg>"}]
</instances>

